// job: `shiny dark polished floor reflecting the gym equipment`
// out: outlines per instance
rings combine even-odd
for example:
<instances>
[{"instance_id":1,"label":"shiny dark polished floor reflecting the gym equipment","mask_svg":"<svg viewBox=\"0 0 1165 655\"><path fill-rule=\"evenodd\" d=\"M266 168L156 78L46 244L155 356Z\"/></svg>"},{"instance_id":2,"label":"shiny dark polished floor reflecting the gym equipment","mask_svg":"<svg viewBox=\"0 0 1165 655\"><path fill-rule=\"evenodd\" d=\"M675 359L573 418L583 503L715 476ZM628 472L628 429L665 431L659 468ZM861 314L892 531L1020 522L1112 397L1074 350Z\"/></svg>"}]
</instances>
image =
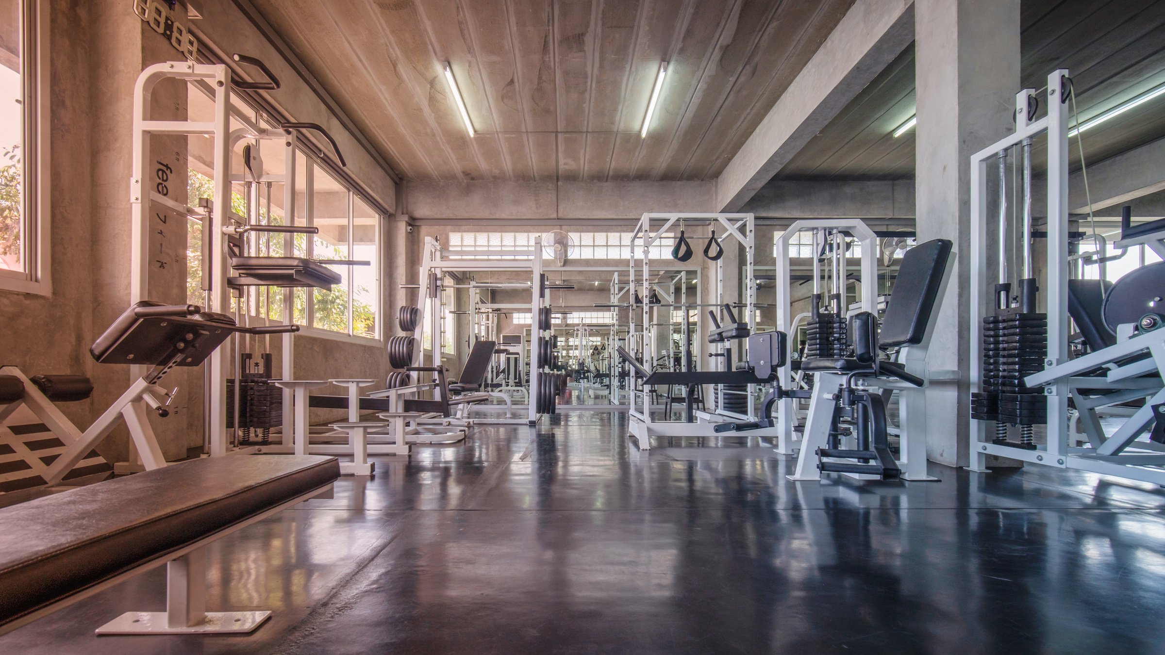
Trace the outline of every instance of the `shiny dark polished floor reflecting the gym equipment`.
<instances>
[{"instance_id":1,"label":"shiny dark polished floor reflecting the gym equipment","mask_svg":"<svg viewBox=\"0 0 1165 655\"><path fill-rule=\"evenodd\" d=\"M1165 493L1047 469L791 483L757 439L615 413L376 459L211 548L248 636L96 638L156 570L0 653L1165 653ZM711 448L718 445L721 448Z\"/></svg>"}]
</instances>

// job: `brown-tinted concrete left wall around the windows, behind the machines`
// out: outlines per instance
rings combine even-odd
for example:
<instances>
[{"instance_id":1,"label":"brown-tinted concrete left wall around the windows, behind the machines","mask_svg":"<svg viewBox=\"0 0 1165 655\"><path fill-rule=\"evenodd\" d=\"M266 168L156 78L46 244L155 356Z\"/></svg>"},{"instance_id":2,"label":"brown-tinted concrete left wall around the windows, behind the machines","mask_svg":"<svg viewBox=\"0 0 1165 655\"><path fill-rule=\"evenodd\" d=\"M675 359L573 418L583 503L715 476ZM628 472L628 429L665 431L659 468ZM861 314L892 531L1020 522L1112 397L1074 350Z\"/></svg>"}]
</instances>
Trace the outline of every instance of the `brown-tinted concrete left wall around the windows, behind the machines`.
<instances>
[{"instance_id":1,"label":"brown-tinted concrete left wall around the windows, behind the machines","mask_svg":"<svg viewBox=\"0 0 1165 655\"><path fill-rule=\"evenodd\" d=\"M0 360L30 375L90 375L96 386L93 397L61 406L84 429L130 382L128 367L97 365L87 348L129 304L133 85L144 66L179 59L181 55L133 13L129 2L72 0L47 6L51 43L51 147L47 157L52 179L52 290L47 296L0 290ZM393 181L327 114L322 101L305 91L303 82L278 59L254 26L242 20L234 3L205 0L199 8L204 17L195 24L205 47L259 56L276 70L284 87L269 98L273 104L296 120L329 126L348 160L348 172L359 176L377 202L395 209ZM155 91L155 117L182 118L184 113L185 87L177 83L160 85ZM155 138L151 146L151 153L175 169L170 198L184 202L185 138ZM151 269L149 296L185 302L185 218L169 218L164 227L160 226L164 235L155 234L150 244L151 252L160 253L160 265ZM386 221L383 234L382 297L388 304L400 295L400 275L407 272L401 261L407 258L398 253L407 252L409 234L403 223L391 219ZM395 305L390 309L395 311ZM389 318L384 311L387 334L395 328L395 315ZM271 341L278 374L281 339ZM259 352L262 344L255 340L250 350ZM388 371L380 345L299 334L295 337L295 374L301 379L382 379ZM164 380L167 387L179 387L171 416L153 420L168 458L185 456L189 448L202 444L202 367L178 368ZM322 390L339 393L336 387ZM99 451L112 460L125 459L125 430L116 430Z\"/></svg>"}]
</instances>

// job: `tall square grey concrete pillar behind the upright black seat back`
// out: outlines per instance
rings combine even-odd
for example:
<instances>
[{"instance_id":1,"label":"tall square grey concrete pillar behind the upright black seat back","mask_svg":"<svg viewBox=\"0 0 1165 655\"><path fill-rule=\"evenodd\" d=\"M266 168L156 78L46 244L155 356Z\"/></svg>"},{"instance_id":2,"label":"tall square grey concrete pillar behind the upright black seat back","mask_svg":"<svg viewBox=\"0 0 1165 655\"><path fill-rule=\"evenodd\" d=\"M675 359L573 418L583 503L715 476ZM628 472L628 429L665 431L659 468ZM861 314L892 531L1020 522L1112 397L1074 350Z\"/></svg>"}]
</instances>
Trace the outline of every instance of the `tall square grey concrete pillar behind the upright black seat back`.
<instances>
[{"instance_id":1,"label":"tall square grey concrete pillar behind the upright black seat back","mask_svg":"<svg viewBox=\"0 0 1165 655\"><path fill-rule=\"evenodd\" d=\"M927 457L966 465L969 425L972 153L1012 128L1019 91L1019 0L917 0L918 240L954 241L956 273L938 316L930 368L962 372L927 389ZM958 407L956 413L949 410Z\"/></svg>"}]
</instances>

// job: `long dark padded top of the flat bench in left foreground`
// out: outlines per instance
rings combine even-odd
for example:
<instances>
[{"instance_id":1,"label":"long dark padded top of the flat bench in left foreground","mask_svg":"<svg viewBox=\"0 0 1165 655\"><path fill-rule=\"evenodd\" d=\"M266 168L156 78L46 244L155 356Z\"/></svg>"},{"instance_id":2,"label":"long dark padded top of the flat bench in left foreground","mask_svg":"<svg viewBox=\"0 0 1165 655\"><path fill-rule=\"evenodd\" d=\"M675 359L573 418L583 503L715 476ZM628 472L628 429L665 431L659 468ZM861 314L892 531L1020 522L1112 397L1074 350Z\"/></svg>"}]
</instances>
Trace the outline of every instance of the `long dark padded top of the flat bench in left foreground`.
<instances>
[{"instance_id":1,"label":"long dark padded top of the flat bench in left foreground","mask_svg":"<svg viewBox=\"0 0 1165 655\"><path fill-rule=\"evenodd\" d=\"M0 625L339 476L334 457L212 457L2 508Z\"/></svg>"}]
</instances>

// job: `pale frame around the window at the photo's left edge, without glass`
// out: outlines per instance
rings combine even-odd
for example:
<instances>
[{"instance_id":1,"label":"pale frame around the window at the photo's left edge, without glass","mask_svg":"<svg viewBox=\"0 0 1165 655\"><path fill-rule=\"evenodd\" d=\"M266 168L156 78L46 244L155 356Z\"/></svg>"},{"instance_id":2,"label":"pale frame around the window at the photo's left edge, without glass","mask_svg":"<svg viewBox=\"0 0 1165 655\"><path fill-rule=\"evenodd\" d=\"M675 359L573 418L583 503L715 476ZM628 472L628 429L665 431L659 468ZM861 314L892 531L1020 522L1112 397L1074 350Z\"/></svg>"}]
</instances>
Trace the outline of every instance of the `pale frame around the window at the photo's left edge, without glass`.
<instances>
[{"instance_id":1,"label":"pale frame around the window at the photo's left edge, without glass","mask_svg":"<svg viewBox=\"0 0 1165 655\"><path fill-rule=\"evenodd\" d=\"M23 141L21 143L21 185L23 190L21 239L23 272L0 270L0 289L20 294L50 296L51 283L51 203L49 103L49 10L45 0L20 2L20 80L23 97Z\"/></svg>"}]
</instances>

